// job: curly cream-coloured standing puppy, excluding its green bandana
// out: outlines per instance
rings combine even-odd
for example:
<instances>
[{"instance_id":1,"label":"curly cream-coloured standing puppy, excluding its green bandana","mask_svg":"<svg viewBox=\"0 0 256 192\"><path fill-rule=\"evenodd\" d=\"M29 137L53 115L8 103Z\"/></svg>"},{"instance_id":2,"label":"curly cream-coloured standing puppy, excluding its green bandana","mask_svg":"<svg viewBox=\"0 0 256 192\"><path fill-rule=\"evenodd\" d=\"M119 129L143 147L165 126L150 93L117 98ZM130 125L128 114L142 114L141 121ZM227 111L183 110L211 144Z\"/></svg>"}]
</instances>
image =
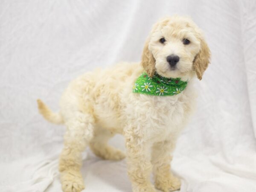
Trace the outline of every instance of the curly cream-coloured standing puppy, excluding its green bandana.
<instances>
[{"instance_id":1,"label":"curly cream-coloured standing puppy, excluding its green bandana","mask_svg":"<svg viewBox=\"0 0 256 192\"><path fill-rule=\"evenodd\" d=\"M175 61L170 62L169 55L175 55ZM133 192L180 189L180 180L170 172L171 153L194 108L192 79L202 79L209 59L209 48L195 23L187 17L167 17L153 26L141 63L122 63L78 77L61 97L59 113L38 100L39 111L48 121L67 127L59 161L63 191L84 189L81 152L88 145L103 159L125 158L122 151L108 145L116 133L125 136ZM188 81L187 87L175 96L133 93L143 71L148 76L179 77Z\"/></svg>"}]
</instances>

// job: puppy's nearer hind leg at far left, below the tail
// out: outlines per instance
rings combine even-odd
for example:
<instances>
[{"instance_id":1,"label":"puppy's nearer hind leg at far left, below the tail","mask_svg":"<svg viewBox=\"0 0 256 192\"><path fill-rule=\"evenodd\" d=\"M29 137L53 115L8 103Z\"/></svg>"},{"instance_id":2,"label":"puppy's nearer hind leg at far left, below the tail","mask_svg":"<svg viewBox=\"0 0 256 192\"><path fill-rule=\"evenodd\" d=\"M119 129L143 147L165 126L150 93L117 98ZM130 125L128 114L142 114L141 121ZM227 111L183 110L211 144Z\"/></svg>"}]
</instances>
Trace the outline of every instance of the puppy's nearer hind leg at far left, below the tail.
<instances>
[{"instance_id":1,"label":"puppy's nearer hind leg at far left, below the tail","mask_svg":"<svg viewBox=\"0 0 256 192\"><path fill-rule=\"evenodd\" d=\"M67 131L64 135L64 148L59 160L61 185L64 192L81 192L84 181L80 172L82 165L81 152L93 137L93 116L73 112L65 122Z\"/></svg>"}]
</instances>

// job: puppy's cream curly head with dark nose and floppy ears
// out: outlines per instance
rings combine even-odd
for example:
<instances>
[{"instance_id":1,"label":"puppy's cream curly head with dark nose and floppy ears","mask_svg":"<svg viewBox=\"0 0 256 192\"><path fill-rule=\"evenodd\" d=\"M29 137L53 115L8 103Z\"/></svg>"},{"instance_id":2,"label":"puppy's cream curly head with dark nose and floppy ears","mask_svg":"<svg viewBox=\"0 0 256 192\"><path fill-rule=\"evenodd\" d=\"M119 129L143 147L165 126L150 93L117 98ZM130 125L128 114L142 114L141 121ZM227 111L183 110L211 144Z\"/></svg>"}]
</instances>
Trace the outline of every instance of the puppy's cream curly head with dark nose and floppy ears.
<instances>
[{"instance_id":1,"label":"puppy's cream curly head with dark nose and floppy ears","mask_svg":"<svg viewBox=\"0 0 256 192\"><path fill-rule=\"evenodd\" d=\"M173 16L153 26L141 62L148 76L157 72L163 77L177 78L196 73L201 80L210 55L198 26L188 17Z\"/></svg>"}]
</instances>

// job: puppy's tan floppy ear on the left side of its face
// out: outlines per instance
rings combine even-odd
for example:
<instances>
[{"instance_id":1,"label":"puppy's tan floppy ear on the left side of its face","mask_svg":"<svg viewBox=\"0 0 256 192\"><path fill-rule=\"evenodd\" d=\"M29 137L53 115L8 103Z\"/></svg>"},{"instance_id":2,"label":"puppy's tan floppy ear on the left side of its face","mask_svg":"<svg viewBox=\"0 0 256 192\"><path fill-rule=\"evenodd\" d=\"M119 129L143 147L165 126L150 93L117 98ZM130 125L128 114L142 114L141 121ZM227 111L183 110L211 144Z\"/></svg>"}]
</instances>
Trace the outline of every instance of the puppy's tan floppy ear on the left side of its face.
<instances>
[{"instance_id":1,"label":"puppy's tan floppy ear on the left side of its face","mask_svg":"<svg viewBox=\"0 0 256 192\"><path fill-rule=\"evenodd\" d=\"M151 51L148 49L149 39L150 38L148 37L145 42L145 46L144 46L142 58L141 58L141 64L145 72L148 74L148 76L152 77L154 76L154 73L155 73L156 60L153 54L151 53Z\"/></svg>"}]
</instances>

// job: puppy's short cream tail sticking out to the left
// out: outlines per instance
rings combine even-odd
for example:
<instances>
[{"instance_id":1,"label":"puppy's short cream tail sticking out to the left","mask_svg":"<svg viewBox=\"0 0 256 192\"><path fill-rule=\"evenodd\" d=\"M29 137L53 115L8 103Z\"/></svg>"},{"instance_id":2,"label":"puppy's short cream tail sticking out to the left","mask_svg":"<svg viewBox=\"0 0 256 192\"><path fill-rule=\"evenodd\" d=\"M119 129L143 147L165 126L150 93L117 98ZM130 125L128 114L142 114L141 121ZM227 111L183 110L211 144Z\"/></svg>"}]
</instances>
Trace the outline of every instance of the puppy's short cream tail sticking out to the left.
<instances>
[{"instance_id":1,"label":"puppy's short cream tail sticking out to the left","mask_svg":"<svg viewBox=\"0 0 256 192\"><path fill-rule=\"evenodd\" d=\"M37 100L38 110L45 119L51 123L63 124L63 119L60 113L53 113L40 99Z\"/></svg>"}]
</instances>

